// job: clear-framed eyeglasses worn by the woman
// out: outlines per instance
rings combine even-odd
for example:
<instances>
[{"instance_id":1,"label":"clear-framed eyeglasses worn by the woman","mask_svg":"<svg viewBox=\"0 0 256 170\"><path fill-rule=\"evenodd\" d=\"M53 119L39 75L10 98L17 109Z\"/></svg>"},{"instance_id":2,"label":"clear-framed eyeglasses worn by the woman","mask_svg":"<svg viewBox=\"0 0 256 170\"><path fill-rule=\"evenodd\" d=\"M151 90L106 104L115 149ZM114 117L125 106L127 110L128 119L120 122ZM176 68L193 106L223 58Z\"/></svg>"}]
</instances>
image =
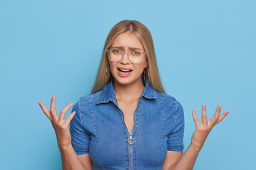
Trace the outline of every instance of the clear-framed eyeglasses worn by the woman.
<instances>
[{"instance_id":1,"label":"clear-framed eyeglasses worn by the woman","mask_svg":"<svg viewBox=\"0 0 256 170\"><path fill-rule=\"evenodd\" d=\"M124 53L124 50L119 48L108 48L106 52L108 59L112 62L119 62L122 60L124 55L127 55L129 62L132 62L133 64L142 63L144 55L146 55L146 52L142 52L140 50L129 50Z\"/></svg>"}]
</instances>

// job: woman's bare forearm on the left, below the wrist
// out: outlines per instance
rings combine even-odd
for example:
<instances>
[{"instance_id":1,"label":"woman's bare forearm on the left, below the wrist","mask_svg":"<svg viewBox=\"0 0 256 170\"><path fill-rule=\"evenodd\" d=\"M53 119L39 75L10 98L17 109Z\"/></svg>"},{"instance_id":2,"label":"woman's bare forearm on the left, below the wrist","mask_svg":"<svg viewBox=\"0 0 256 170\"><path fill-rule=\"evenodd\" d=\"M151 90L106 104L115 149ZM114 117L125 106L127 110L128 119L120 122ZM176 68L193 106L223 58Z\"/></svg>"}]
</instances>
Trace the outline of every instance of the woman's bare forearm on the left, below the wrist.
<instances>
[{"instance_id":1,"label":"woman's bare forearm on the left, below the wrist","mask_svg":"<svg viewBox=\"0 0 256 170\"><path fill-rule=\"evenodd\" d=\"M78 158L78 155L75 153L75 150L73 149L71 144L65 147L59 146L59 148L63 170L87 170L80 162L80 159Z\"/></svg>"}]
</instances>

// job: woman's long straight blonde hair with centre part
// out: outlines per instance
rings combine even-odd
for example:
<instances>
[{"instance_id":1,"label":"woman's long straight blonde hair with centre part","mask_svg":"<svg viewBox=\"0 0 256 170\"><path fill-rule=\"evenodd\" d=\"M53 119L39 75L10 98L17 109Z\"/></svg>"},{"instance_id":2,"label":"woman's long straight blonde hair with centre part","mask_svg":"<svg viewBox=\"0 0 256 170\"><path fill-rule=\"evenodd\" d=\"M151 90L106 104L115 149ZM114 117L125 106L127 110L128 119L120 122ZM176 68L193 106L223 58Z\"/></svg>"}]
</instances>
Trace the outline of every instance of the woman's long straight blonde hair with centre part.
<instances>
[{"instance_id":1,"label":"woman's long straight blonde hair with centre part","mask_svg":"<svg viewBox=\"0 0 256 170\"><path fill-rule=\"evenodd\" d=\"M151 86L154 89L165 94L164 88L161 84L161 80L159 77L159 71L156 63L156 55L154 52L154 44L153 39L151 37L151 33L149 32L148 28L146 28L146 26L144 26L142 23L139 23L139 21L135 20L124 20L117 23L112 28L112 30L110 30L109 35L107 35L107 39L105 41L105 45L102 52L100 66L97 71L97 77L95 80L95 84L92 87L91 94L100 91L102 87L105 86L105 84L108 81L110 81L110 79L112 79L113 76L110 72L110 66L107 61L108 59L106 50L109 47L111 47L112 42L114 41L114 38L117 37L117 35L125 32L134 33L134 35L137 35L137 37L142 41L142 45L146 50L146 55L148 57L149 62L148 67L146 67L144 70L146 79L148 79L149 84L151 84Z\"/></svg>"}]
</instances>

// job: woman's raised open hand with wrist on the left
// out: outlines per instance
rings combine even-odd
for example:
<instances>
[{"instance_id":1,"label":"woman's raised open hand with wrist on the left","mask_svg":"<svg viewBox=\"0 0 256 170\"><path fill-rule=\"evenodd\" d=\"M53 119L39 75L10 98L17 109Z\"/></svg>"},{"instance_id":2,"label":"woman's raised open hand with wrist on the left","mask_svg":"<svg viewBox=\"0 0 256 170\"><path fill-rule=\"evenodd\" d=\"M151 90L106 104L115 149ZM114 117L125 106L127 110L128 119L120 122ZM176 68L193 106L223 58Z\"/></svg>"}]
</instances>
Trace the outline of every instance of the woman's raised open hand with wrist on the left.
<instances>
[{"instance_id":1,"label":"woman's raised open hand with wrist on the left","mask_svg":"<svg viewBox=\"0 0 256 170\"><path fill-rule=\"evenodd\" d=\"M73 119L75 111L71 113L66 120L64 120L65 113L68 111L68 109L70 109L71 106L73 106L73 103L69 103L67 106L65 106L65 108L60 111L60 115L58 115L55 111L55 99L55 96L53 96L51 99L50 111L48 111L46 106L44 106L41 101L38 101L38 104L42 108L43 113L45 113L50 119L50 123L53 125L59 147L65 147L71 144L71 135L68 125Z\"/></svg>"}]
</instances>

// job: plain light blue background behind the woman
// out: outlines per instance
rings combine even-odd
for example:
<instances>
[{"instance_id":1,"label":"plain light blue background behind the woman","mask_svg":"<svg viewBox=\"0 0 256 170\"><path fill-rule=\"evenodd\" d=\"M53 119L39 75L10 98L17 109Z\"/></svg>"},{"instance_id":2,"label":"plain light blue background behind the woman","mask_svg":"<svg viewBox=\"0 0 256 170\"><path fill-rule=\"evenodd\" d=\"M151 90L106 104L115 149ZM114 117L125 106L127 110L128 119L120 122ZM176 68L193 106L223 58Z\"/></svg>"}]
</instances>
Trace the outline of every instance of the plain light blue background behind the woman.
<instances>
[{"instance_id":1,"label":"plain light blue background behind the woman","mask_svg":"<svg viewBox=\"0 0 256 170\"><path fill-rule=\"evenodd\" d=\"M166 93L185 113L185 149L220 104L194 169L255 168L255 1L0 0L0 169L61 169L55 132L38 101L58 113L90 94L112 26L135 19L154 39ZM65 118L70 115L71 109Z\"/></svg>"}]
</instances>

